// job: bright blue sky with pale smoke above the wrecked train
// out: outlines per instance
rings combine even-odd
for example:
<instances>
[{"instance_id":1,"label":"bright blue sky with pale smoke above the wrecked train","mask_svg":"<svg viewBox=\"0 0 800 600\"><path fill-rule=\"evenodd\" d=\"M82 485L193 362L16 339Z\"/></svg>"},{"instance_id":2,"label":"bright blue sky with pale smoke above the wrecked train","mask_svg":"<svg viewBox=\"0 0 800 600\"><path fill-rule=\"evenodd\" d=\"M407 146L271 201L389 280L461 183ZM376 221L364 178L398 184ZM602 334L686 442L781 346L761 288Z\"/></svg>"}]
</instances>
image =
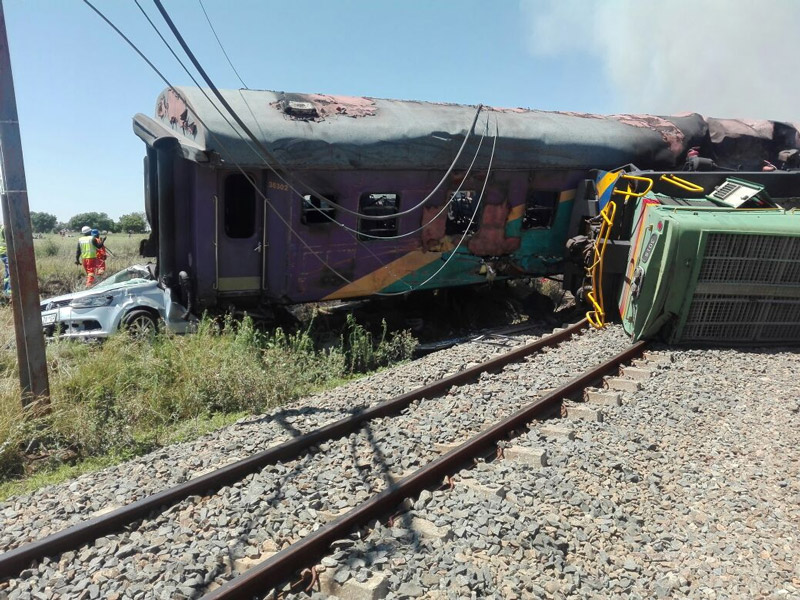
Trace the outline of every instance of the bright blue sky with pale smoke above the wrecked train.
<instances>
[{"instance_id":1,"label":"bright blue sky with pale smoke above the wrecked train","mask_svg":"<svg viewBox=\"0 0 800 600\"><path fill-rule=\"evenodd\" d=\"M152 0L140 1L163 27ZM144 144L131 117L152 115L164 84L80 0L3 4L31 210L60 220L142 211ZM800 121L786 70L785 40L800 30L792 0L203 4L253 89ZM191 85L133 0L96 5L172 83ZM199 1L165 6L215 83L241 87Z\"/></svg>"}]
</instances>

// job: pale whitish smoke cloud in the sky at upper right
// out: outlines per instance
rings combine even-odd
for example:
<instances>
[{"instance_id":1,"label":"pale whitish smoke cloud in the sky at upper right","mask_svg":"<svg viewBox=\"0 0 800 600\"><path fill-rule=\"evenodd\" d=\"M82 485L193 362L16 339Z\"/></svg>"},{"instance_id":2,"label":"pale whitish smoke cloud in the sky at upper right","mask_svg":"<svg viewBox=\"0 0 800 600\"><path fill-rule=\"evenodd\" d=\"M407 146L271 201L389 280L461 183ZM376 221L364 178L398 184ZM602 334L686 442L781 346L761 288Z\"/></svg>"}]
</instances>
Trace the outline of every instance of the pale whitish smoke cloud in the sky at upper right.
<instances>
[{"instance_id":1,"label":"pale whitish smoke cloud in the sky at upper right","mask_svg":"<svg viewBox=\"0 0 800 600\"><path fill-rule=\"evenodd\" d=\"M597 60L619 112L800 121L796 0L520 0L520 9L531 52Z\"/></svg>"}]
</instances>

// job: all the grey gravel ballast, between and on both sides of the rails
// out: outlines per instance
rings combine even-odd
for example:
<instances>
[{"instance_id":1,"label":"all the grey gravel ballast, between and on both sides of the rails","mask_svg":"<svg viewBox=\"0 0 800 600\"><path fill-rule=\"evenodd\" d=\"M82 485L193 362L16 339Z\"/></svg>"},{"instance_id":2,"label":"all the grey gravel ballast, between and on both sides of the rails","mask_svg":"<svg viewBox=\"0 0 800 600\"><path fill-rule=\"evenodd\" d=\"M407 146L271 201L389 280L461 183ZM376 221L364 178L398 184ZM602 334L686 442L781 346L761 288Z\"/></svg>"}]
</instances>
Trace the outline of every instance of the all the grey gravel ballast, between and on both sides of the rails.
<instances>
[{"instance_id":1,"label":"all the grey gravel ballast, between and on both sides of the rails","mask_svg":"<svg viewBox=\"0 0 800 600\"><path fill-rule=\"evenodd\" d=\"M519 339L520 343L530 338ZM403 415L191 498L131 531L45 559L0 598L192 598L230 579L629 344L617 327L414 403ZM4 549L194 477L504 351L464 344L192 444L0 505ZM559 421L508 458L424 492L393 523L323 561L381 596L800 597L800 387L793 351L660 350L602 421ZM96 505L96 506L95 506ZM385 593L384 593L385 592ZM37 596L38 594L38 596ZM327 594L319 591L317 597Z\"/></svg>"}]
</instances>

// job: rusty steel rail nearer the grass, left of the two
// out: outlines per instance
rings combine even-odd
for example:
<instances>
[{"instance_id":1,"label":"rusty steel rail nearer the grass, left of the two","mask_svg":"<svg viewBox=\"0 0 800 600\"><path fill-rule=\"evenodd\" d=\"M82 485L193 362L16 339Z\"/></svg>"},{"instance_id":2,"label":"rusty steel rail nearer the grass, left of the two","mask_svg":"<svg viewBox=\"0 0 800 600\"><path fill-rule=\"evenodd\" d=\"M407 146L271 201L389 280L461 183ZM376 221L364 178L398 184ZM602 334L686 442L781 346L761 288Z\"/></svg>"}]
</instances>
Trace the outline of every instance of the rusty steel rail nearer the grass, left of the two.
<instances>
[{"instance_id":1,"label":"rusty steel rail nearer the grass, left of the two","mask_svg":"<svg viewBox=\"0 0 800 600\"><path fill-rule=\"evenodd\" d=\"M221 469L147 496L104 515L87 519L41 540L9 550L4 554L0 554L0 581L18 574L27 568L32 561L74 550L80 547L81 544L92 542L98 537L119 531L138 519L146 518L157 511L163 511L189 496L206 495L225 485L240 481L247 475L257 472L267 465L296 459L302 452L312 446L358 431L363 423L371 419L396 414L415 400L441 394L451 386L462 385L476 379L481 373L497 371L505 365L521 360L541 348L555 346L585 326L586 320L584 319L562 331L542 337L530 344L515 348L484 363L439 379L406 394L380 402L359 413L243 458Z\"/></svg>"}]
</instances>

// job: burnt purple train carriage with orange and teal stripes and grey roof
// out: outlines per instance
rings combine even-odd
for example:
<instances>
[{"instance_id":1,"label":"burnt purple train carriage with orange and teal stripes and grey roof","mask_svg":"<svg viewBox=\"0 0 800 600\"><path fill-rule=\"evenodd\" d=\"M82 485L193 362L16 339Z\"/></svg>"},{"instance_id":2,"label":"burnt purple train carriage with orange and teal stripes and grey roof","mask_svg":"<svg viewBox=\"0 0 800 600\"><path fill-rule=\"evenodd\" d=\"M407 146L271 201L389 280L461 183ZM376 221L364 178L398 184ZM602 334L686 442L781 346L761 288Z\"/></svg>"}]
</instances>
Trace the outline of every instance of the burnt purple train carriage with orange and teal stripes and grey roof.
<instances>
[{"instance_id":1,"label":"burnt purple train carriage with orange and teal stripes and grey roof","mask_svg":"<svg viewBox=\"0 0 800 600\"><path fill-rule=\"evenodd\" d=\"M142 254L195 313L563 273L590 170L760 176L800 148L792 125L698 114L222 94L255 140L199 88L165 90L133 122Z\"/></svg>"}]
</instances>

